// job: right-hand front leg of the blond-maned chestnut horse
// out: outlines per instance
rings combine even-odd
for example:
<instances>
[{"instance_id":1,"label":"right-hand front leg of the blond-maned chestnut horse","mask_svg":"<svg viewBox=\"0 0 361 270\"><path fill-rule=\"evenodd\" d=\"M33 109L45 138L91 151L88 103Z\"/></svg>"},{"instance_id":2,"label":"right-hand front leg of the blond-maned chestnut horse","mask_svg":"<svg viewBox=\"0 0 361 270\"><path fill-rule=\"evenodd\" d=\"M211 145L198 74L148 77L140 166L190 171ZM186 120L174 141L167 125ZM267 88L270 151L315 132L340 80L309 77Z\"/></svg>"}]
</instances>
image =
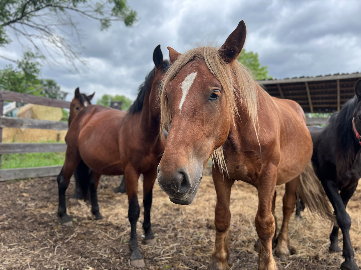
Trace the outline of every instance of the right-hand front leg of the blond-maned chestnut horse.
<instances>
[{"instance_id":1,"label":"right-hand front leg of the blond-maned chestnut horse","mask_svg":"<svg viewBox=\"0 0 361 270\"><path fill-rule=\"evenodd\" d=\"M277 266L272 255L272 238L275 232L272 215L272 200L276 185L275 166L264 168L256 188L258 190L258 210L256 215L256 230L260 238L259 270L276 270ZM294 201L293 201L294 203Z\"/></svg>"}]
</instances>

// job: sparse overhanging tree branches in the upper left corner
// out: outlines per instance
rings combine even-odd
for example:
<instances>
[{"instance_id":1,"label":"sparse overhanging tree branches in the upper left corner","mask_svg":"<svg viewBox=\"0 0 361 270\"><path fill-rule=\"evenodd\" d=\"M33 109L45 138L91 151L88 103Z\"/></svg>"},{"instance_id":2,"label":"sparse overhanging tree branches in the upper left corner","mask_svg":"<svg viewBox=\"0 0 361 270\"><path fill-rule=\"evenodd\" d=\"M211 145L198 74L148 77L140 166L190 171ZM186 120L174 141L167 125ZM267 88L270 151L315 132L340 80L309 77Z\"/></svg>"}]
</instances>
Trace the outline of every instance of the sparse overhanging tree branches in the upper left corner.
<instances>
[{"instance_id":1,"label":"sparse overhanging tree branches in the upper left corner","mask_svg":"<svg viewBox=\"0 0 361 270\"><path fill-rule=\"evenodd\" d=\"M0 46L12 42L7 35L12 29L23 46L19 37L25 38L49 64L60 64L54 55L62 55L67 64L77 69L75 63L84 64L84 60L80 57L82 35L74 20L76 15L99 21L101 30L108 29L113 21L123 21L126 26L136 22L136 12L127 0L1 0ZM78 40L75 43L70 41L73 35Z\"/></svg>"}]
</instances>

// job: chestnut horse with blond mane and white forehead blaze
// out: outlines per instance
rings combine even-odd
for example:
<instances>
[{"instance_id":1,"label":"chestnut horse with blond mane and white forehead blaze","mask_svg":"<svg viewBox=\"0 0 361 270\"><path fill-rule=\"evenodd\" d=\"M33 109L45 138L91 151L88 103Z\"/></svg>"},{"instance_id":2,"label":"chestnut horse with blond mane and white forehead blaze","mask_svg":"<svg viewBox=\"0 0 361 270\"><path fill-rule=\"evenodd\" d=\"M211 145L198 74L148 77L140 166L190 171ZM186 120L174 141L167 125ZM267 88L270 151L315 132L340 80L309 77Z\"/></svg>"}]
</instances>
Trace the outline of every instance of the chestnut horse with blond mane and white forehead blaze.
<instances>
[{"instance_id":1,"label":"chestnut horse with blond mane and white forehead blaze","mask_svg":"<svg viewBox=\"0 0 361 270\"><path fill-rule=\"evenodd\" d=\"M166 127L169 134L158 166L158 183L171 202L193 201L202 170L213 155L216 242L208 269L230 266L227 232L231 187L236 180L258 190L259 269L277 269L272 255L275 185L286 183L284 222L276 249L287 255L288 220L299 175L312 156L300 105L272 98L236 60L245 36L241 21L219 50L201 47L180 54L168 47L172 65L161 85L160 131Z\"/></svg>"}]
</instances>

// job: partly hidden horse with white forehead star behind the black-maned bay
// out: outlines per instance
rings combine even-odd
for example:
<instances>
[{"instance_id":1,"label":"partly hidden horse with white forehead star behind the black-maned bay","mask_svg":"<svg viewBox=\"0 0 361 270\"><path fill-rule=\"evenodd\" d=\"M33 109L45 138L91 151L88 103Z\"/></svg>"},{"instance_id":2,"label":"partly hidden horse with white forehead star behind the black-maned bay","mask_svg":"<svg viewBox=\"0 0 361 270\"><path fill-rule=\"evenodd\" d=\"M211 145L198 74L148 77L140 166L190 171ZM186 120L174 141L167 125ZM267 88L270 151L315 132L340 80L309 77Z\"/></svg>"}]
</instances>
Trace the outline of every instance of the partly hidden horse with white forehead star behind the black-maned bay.
<instances>
[{"instance_id":1,"label":"partly hidden horse with white forehead star behind the black-maned bay","mask_svg":"<svg viewBox=\"0 0 361 270\"><path fill-rule=\"evenodd\" d=\"M86 94L80 93L79 87L75 89L74 98L70 103L68 126L70 126L71 121L73 121L74 117L77 116L82 109L91 105L94 94L95 92L87 96ZM91 170L81 161L74 172L75 190L70 198L90 200L89 188L87 186L90 174Z\"/></svg>"}]
</instances>

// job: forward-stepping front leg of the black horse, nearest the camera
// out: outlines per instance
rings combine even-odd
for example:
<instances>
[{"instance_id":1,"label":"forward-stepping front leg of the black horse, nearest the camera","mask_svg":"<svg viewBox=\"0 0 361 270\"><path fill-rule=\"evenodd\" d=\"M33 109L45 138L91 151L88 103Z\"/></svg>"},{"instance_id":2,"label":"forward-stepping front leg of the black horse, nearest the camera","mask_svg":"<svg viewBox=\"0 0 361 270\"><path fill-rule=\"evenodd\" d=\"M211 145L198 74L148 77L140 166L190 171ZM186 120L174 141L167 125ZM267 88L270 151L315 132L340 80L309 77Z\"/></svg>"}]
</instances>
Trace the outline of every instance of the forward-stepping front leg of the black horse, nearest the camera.
<instances>
[{"instance_id":1,"label":"forward-stepping front leg of the black horse, nearest the camera","mask_svg":"<svg viewBox=\"0 0 361 270\"><path fill-rule=\"evenodd\" d=\"M343 250L342 250L342 256L345 258L345 261L341 264L342 270L358 270L358 266L355 261L355 253L353 251L353 248L351 246L351 240L350 240L350 228L351 228L351 218L346 212L344 201L341 197L341 195L338 193L338 188L336 184L333 181L321 181L323 188L325 189L325 192L327 194L327 197L329 197L330 202L332 206L335 209L336 213L336 220L337 223L342 231L343 235ZM355 188L356 189L356 188ZM353 192L350 192L347 196L344 195L344 198L351 198ZM348 201L348 200L347 200Z\"/></svg>"}]
</instances>

